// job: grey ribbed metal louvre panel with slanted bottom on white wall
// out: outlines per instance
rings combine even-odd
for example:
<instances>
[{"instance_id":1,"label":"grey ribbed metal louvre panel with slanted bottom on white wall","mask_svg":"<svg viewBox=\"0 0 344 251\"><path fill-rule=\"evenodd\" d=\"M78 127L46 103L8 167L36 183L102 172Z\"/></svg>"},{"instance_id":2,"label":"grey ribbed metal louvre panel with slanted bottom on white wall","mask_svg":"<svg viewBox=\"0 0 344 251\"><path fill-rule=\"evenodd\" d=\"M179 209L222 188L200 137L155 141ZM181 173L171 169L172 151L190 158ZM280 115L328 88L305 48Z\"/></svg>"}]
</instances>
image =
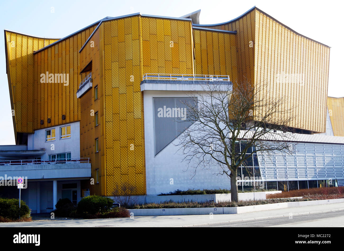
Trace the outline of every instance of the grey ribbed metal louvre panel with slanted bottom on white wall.
<instances>
[{"instance_id":1,"label":"grey ribbed metal louvre panel with slanted bottom on white wall","mask_svg":"<svg viewBox=\"0 0 344 251\"><path fill-rule=\"evenodd\" d=\"M197 106L195 97L153 98L154 155L175 140L194 122L190 106Z\"/></svg>"}]
</instances>

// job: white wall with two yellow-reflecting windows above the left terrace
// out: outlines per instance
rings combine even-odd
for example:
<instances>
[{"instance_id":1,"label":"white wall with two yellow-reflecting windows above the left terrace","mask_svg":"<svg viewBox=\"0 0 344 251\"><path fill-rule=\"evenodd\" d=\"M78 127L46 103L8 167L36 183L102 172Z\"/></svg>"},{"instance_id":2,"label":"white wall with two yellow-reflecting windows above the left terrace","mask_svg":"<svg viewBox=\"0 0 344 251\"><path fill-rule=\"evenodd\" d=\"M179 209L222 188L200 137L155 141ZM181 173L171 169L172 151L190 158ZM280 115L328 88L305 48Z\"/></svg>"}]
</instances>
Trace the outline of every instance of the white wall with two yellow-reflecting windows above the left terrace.
<instances>
[{"instance_id":1,"label":"white wall with two yellow-reflecting windows above the left terrace","mask_svg":"<svg viewBox=\"0 0 344 251\"><path fill-rule=\"evenodd\" d=\"M60 127L66 125L71 126L71 137L60 139ZM55 128L55 140L45 142L45 131L53 128ZM51 144L54 144L55 150L51 150ZM45 154L41 156L41 159L49 159L50 154L66 152L71 152L71 158L80 158L80 122L35 130L33 134L28 135L28 150L39 149L45 149Z\"/></svg>"}]
</instances>

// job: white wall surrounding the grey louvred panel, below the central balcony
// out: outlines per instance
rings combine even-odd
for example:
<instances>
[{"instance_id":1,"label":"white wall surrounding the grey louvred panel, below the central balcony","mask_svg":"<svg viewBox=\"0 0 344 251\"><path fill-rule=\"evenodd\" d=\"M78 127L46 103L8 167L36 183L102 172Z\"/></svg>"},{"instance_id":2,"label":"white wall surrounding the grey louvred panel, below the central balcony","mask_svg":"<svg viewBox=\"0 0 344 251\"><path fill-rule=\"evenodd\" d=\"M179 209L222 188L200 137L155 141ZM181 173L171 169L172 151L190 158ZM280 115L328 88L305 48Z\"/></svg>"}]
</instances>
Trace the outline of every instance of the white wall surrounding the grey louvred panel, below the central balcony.
<instances>
[{"instance_id":1,"label":"white wall surrounding the grey louvred panel, below the central balcony","mask_svg":"<svg viewBox=\"0 0 344 251\"><path fill-rule=\"evenodd\" d=\"M176 153L179 147L178 138L166 146L157 156L154 156L154 124L153 124L153 97L187 97L193 92L183 91L144 91L144 140L146 154L146 186L147 194L167 193L177 189L230 189L230 180L227 176L214 175L219 170L197 169L191 179L193 168L187 169L187 163L182 162L183 156ZM173 185L170 184L173 179Z\"/></svg>"}]
</instances>

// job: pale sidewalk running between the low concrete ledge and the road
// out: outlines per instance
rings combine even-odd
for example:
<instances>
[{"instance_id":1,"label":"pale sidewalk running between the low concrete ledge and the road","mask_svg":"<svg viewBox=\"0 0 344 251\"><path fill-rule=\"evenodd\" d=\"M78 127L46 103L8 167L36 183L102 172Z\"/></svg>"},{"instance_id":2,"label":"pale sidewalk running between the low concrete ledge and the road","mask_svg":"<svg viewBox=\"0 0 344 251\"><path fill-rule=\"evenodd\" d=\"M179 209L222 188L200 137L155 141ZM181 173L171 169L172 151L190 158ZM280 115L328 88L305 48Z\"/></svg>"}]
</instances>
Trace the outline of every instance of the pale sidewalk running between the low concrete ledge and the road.
<instances>
[{"instance_id":1,"label":"pale sidewalk running between the low concrete ledge and the road","mask_svg":"<svg viewBox=\"0 0 344 251\"><path fill-rule=\"evenodd\" d=\"M290 207L243 214L137 216L133 218L34 220L32 222L0 223L0 227L181 227L221 222L289 217L292 215L343 210L344 203Z\"/></svg>"}]
</instances>

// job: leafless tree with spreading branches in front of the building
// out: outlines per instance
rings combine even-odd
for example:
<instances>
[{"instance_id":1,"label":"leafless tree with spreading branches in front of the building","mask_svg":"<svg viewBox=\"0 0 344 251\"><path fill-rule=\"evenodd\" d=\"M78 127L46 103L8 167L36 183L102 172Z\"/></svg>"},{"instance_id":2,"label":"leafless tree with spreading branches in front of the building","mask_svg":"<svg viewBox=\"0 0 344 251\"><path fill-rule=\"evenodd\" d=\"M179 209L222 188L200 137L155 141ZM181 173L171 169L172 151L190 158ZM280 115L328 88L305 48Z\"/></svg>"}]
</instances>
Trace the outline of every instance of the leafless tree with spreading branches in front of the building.
<instances>
[{"instance_id":1,"label":"leafless tree with spreading branches in front of the building","mask_svg":"<svg viewBox=\"0 0 344 251\"><path fill-rule=\"evenodd\" d=\"M197 105L184 103L188 120L194 123L175 145L188 167L194 168L193 175L197 168L213 167L218 169L216 175L226 175L231 199L238 201L238 168L252 166L250 161L257 155L268 162L275 150L293 152L292 133L287 132L290 110L281 109L281 100L259 98L260 88L248 82L234 91L226 84L201 86L202 91L190 95Z\"/></svg>"}]
</instances>

